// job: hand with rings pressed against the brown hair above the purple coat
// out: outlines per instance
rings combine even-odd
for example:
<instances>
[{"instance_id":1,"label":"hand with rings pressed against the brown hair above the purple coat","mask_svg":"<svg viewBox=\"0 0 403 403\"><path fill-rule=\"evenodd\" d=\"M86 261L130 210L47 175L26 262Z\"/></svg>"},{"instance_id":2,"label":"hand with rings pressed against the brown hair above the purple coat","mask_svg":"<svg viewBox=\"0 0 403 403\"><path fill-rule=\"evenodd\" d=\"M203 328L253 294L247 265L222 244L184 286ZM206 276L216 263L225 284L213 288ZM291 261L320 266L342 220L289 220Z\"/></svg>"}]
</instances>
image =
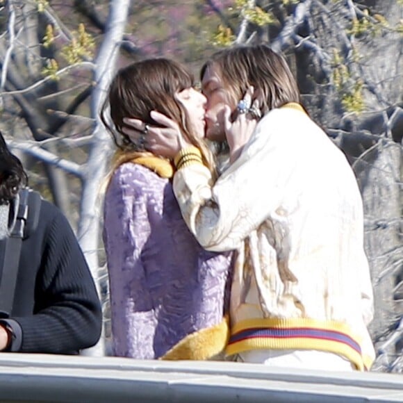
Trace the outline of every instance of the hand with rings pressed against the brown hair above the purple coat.
<instances>
[{"instance_id":1,"label":"hand with rings pressed against the brown hair above the purple coat","mask_svg":"<svg viewBox=\"0 0 403 403\"><path fill-rule=\"evenodd\" d=\"M150 116L161 127L149 124L146 126L142 120L124 118L124 124L133 129L124 127L122 130L132 142L141 142L147 151L165 158L174 158L181 149L190 146L183 138L179 125L172 119L156 110L152 110Z\"/></svg>"}]
</instances>

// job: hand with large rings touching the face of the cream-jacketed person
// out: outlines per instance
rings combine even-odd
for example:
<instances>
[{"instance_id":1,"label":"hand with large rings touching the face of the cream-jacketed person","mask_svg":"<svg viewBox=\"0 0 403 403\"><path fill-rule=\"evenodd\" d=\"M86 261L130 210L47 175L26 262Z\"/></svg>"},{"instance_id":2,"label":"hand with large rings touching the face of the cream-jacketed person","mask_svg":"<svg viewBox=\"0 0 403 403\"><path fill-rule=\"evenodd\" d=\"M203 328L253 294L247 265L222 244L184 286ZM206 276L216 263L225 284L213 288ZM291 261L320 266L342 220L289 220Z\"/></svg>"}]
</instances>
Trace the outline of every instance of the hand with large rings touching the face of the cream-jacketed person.
<instances>
[{"instance_id":1,"label":"hand with large rings touching the face of the cream-jacketed person","mask_svg":"<svg viewBox=\"0 0 403 403\"><path fill-rule=\"evenodd\" d=\"M244 101L249 102L249 105L252 103L252 95L254 94L254 88L249 87L247 90ZM255 99L252 107L249 108L258 108L258 100ZM247 111L246 113L237 114L235 120L231 122L231 109L229 106L226 106L224 110L224 130L225 135L227 136L227 142L229 145L229 161L233 163L240 156L240 153L245 146L245 144L249 141L254 129L256 128L258 120L256 116Z\"/></svg>"}]
</instances>

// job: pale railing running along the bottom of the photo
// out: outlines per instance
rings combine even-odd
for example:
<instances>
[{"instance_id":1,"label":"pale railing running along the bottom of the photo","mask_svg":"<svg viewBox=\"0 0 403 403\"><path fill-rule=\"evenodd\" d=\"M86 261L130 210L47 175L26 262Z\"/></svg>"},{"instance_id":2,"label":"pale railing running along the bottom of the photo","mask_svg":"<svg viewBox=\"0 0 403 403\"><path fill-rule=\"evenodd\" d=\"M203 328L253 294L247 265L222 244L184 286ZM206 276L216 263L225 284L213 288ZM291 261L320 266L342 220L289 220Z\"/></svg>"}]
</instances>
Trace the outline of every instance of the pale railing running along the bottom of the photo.
<instances>
[{"instance_id":1,"label":"pale railing running along the bottom of the photo","mask_svg":"<svg viewBox=\"0 0 403 403\"><path fill-rule=\"evenodd\" d=\"M0 402L403 402L403 375L1 353Z\"/></svg>"}]
</instances>

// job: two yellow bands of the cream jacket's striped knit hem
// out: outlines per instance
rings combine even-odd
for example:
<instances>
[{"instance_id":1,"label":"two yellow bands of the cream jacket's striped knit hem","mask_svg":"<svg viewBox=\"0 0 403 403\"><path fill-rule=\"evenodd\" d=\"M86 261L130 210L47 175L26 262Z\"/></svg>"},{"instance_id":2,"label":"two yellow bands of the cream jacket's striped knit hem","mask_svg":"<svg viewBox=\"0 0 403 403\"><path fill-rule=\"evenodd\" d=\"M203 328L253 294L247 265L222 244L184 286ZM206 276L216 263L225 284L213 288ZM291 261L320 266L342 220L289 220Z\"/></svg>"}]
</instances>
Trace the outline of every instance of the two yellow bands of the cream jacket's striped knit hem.
<instances>
[{"instance_id":1,"label":"two yellow bands of the cream jacket's striped knit hem","mask_svg":"<svg viewBox=\"0 0 403 403\"><path fill-rule=\"evenodd\" d=\"M352 334L347 324L335 321L321 321L307 318L294 319L251 319L238 322L232 329L231 334L245 329L318 329L318 331L336 331L361 345L361 338ZM333 352L351 361L357 370L369 370L374 359L366 354L360 354L356 349L340 340L328 340L326 338L310 338L304 336L293 337L249 337L238 341L231 340L227 345L226 354L238 354L251 349L315 349L324 352Z\"/></svg>"}]
</instances>

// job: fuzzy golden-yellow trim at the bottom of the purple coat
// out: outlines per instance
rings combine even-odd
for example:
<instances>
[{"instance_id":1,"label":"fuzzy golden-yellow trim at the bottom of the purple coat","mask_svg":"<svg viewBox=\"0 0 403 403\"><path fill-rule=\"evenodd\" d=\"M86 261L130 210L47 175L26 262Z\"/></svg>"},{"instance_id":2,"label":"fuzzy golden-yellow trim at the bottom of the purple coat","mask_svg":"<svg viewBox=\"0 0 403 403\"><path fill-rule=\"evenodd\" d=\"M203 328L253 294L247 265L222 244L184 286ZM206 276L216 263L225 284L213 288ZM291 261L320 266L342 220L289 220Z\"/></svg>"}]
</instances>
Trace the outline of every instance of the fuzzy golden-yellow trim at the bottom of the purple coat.
<instances>
[{"instance_id":1,"label":"fuzzy golden-yellow trim at the bottom of the purple coat","mask_svg":"<svg viewBox=\"0 0 403 403\"><path fill-rule=\"evenodd\" d=\"M229 339L229 320L195 331L174 345L161 360L207 360L222 352Z\"/></svg>"}]
</instances>

